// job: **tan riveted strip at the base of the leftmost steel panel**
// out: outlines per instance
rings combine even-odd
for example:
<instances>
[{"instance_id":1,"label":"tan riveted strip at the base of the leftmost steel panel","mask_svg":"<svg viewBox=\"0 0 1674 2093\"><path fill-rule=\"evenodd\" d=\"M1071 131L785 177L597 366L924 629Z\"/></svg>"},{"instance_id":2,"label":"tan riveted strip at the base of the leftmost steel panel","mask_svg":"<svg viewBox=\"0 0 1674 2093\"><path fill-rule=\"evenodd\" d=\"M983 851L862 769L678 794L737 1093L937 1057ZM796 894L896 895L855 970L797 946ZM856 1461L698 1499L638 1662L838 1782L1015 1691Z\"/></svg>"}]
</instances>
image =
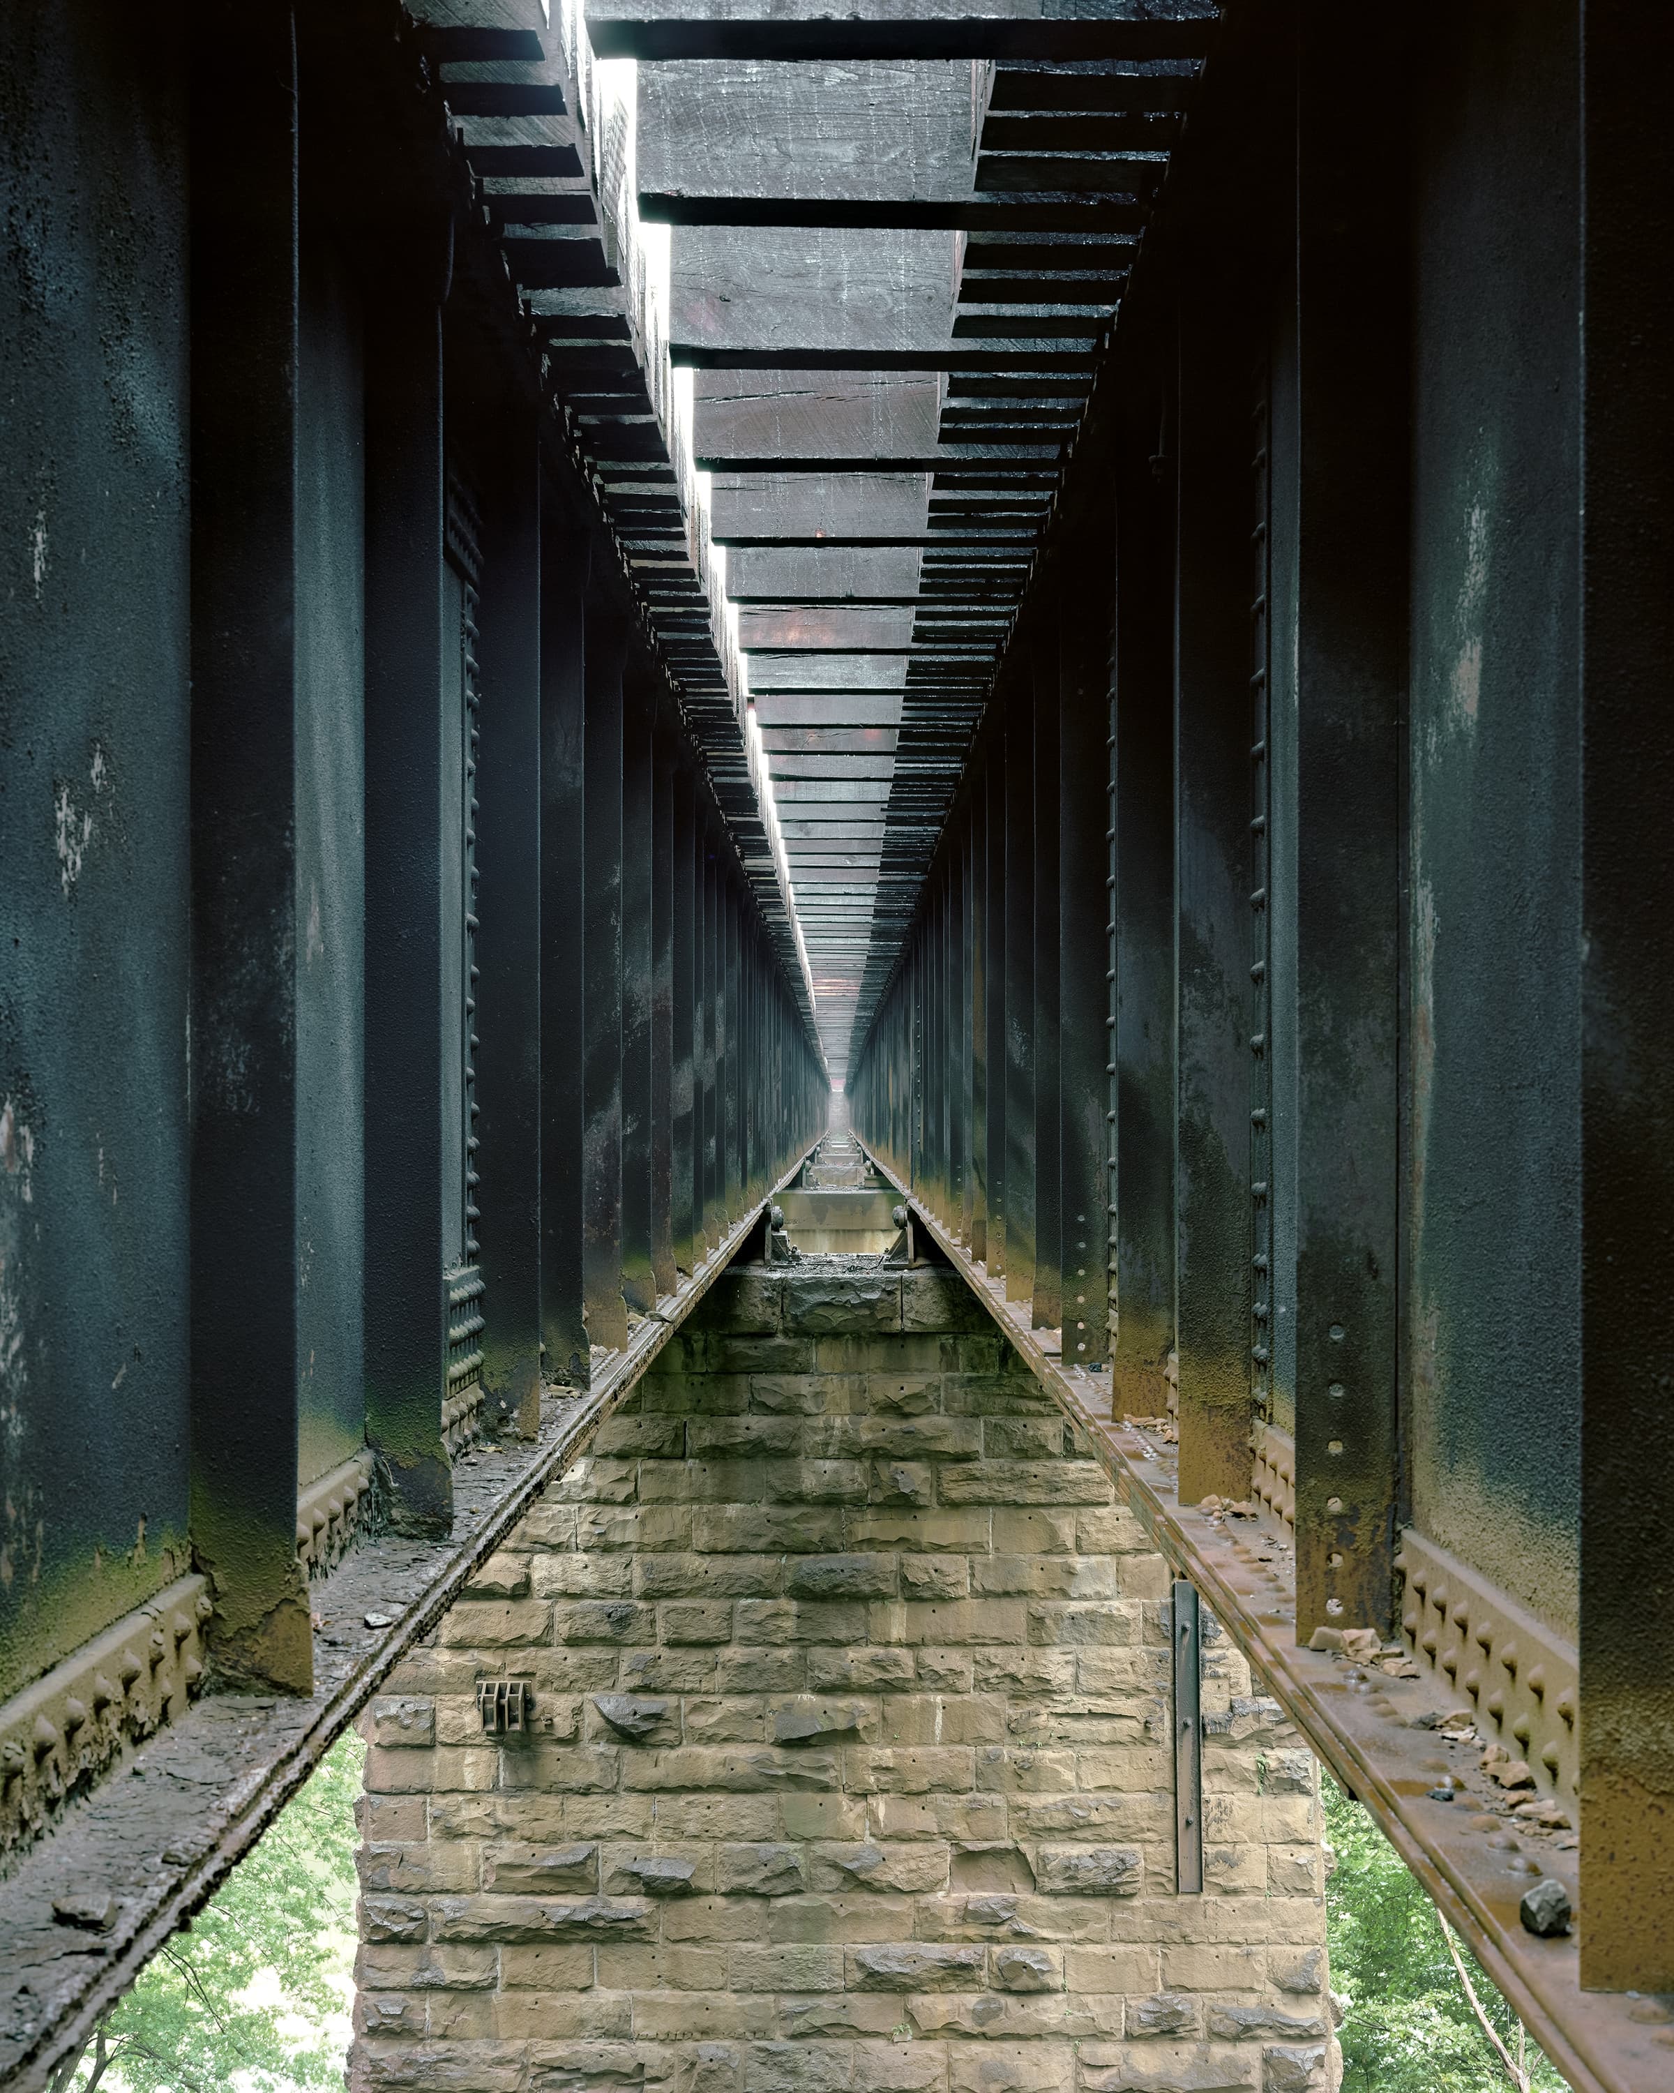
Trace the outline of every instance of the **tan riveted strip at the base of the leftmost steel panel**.
<instances>
[{"instance_id":1,"label":"tan riveted strip at the base of the leftmost steel panel","mask_svg":"<svg viewBox=\"0 0 1674 2093\"><path fill-rule=\"evenodd\" d=\"M203 1576L184 1576L0 1708L0 1861L113 1760L184 1714L203 1679Z\"/></svg>"}]
</instances>

